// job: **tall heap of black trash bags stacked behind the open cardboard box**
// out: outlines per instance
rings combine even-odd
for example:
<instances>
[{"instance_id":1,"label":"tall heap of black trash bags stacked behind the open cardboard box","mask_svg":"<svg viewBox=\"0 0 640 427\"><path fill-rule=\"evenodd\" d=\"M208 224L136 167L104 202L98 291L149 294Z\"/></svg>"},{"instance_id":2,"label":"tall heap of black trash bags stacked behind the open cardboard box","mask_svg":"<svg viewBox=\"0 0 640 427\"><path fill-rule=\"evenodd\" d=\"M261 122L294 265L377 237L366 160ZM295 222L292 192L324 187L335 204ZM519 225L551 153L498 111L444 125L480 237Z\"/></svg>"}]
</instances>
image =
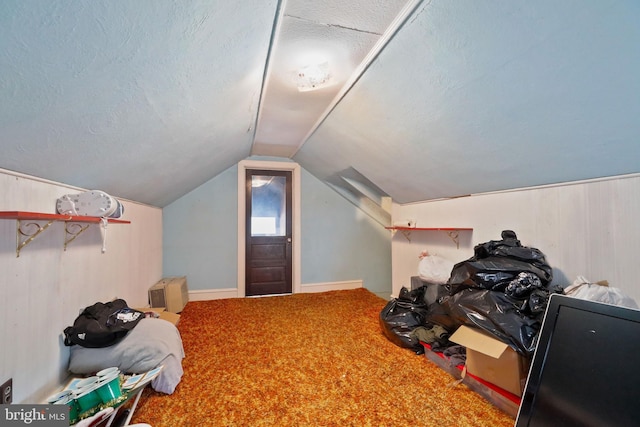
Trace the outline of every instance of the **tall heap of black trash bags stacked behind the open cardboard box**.
<instances>
[{"instance_id":1,"label":"tall heap of black trash bags stacked behind the open cardboard box","mask_svg":"<svg viewBox=\"0 0 640 427\"><path fill-rule=\"evenodd\" d=\"M451 331L478 327L531 358L549 296L562 288L550 285L553 270L541 251L523 247L513 231L502 238L454 266L449 295L428 306L426 322Z\"/></svg>"}]
</instances>

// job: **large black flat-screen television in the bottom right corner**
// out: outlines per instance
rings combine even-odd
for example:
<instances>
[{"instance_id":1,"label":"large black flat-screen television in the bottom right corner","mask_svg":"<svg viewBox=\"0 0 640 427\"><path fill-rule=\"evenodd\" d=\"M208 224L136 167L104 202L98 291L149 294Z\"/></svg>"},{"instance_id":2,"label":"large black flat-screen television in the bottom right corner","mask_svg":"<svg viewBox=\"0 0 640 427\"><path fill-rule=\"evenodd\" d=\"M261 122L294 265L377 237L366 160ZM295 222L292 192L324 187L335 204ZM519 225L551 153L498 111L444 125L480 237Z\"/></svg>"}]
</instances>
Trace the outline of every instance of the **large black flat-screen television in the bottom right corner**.
<instances>
[{"instance_id":1,"label":"large black flat-screen television in the bottom right corner","mask_svg":"<svg viewBox=\"0 0 640 427\"><path fill-rule=\"evenodd\" d=\"M640 426L640 310L554 294L516 427Z\"/></svg>"}]
</instances>

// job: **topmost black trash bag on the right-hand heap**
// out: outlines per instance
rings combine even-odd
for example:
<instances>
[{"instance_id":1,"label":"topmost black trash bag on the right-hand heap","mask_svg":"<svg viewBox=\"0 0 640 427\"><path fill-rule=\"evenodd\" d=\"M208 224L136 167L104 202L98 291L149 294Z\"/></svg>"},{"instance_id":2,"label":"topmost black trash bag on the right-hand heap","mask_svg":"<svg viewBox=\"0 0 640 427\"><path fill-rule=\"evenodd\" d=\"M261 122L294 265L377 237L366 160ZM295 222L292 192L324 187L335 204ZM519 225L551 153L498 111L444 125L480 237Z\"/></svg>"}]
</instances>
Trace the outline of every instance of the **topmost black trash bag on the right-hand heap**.
<instances>
[{"instance_id":1,"label":"topmost black trash bag on the right-hand heap","mask_svg":"<svg viewBox=\"0 0 640 427\"><path fill-rule=\"evenodd\" d=\"M513 231L504 230L502 240L477 245L473 257L454 265L446 286L450 295L469 287L502 292L522 272L536 275L543 287L553 279L544 254L522 246Z\"/></svg>"}]
</instances>

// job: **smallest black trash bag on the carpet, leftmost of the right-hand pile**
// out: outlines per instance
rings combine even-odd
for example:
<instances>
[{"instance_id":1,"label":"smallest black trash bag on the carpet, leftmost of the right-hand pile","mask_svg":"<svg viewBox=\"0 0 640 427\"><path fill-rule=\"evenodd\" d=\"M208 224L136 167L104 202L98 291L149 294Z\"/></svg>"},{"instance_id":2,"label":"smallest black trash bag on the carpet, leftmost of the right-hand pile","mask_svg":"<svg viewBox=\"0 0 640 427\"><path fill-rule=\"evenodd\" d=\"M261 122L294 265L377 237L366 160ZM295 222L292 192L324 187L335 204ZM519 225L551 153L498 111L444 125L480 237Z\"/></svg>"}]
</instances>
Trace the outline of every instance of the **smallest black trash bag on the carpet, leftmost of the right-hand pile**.
<instances>
[{"instance_id":1,"label":"smallest black trash bag on the carpet, leftmost of the right-hand pile","mask_svg":"<svg viewBox=\"0 0 640 427\"><path fill-rule=\"evenodd\" d=\"M417 354L424 353L424 348L412 333L414 329L425 324L425 289L420 287L409 291L403 287L398 298L389 301L379 316L384 335L397 346L410 348Z\"/></svg>"}]
</instances>

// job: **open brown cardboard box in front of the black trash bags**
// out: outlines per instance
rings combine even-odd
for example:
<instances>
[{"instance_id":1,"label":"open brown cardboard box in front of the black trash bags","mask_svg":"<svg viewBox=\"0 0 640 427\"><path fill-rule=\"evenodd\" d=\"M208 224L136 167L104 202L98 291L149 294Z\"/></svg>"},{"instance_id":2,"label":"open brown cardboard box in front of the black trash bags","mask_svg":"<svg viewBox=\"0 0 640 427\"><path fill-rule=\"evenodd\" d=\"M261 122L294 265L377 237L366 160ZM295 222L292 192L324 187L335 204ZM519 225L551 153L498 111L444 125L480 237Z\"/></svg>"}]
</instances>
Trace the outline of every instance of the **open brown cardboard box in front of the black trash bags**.
<instances>
[{"instance_id":1,"label":"open brown cardboard box in front of the black trash bags","mask_svg":"<svg viewBox=\"0 0 640 427\"><path fill-rule=\"evenodd\" d=\"M493 335L477 328L460 326L449 340L467 348L467 372L522 396L528 362Z\"/></svg>"}]
</instances>

